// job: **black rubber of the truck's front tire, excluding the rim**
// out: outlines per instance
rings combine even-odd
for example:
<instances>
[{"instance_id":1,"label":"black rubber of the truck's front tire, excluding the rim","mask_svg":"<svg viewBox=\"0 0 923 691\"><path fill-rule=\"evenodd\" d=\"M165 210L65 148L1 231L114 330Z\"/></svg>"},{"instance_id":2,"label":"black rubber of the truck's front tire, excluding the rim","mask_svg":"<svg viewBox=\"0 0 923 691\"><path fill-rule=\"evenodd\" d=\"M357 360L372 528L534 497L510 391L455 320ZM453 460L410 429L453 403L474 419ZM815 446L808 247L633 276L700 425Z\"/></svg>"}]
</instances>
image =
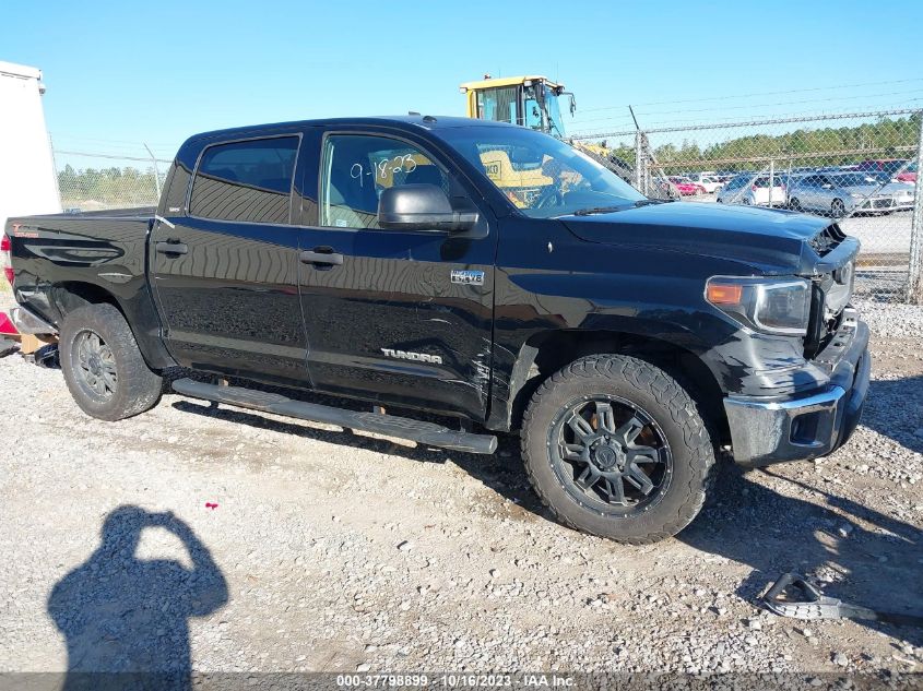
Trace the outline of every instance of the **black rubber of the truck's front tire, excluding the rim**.
<instances>
[{"instance_id":1,"label":"black rubber of the truck's front tire, excluding the rim","mask_svg":"<svg viewBox=\"0 0 923 691\"><path fill-rule=\"evenodd\" d=\"M613 395L647 410L666 436L673 477L650 511L604 516L577 502L552 466L549 431L558 412L584 395ZM560 523L600 537L642 545L671 537L701 510L715 476L715 448L696 402L662 369L625 355L593 355L558 370L534 393L521 434L525 473Z\"/></svg>"}]
</instances>

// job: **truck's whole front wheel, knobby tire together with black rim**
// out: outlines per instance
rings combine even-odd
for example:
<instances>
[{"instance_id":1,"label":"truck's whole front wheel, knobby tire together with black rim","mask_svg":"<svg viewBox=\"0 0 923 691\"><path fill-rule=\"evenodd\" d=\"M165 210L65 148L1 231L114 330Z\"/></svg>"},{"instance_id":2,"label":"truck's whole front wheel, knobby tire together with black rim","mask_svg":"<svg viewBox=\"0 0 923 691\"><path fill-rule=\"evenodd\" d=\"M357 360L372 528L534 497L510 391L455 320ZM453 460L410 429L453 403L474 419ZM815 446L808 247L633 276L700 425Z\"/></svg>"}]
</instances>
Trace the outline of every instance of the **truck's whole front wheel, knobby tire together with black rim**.
<instances>
[{"instance_id":1,"label":"truck's whole front wheel, knobby tire together with black rim","mask_svg":"<svg viewBox=\"0 0 923 691\"><path fill-rule=\"evenodd\" d=\"M688 392L624 355L585 357L546 380L525 412L522 455L557 520L632 545L696 517L715 461Z\"/></svg>"}]
</instances>

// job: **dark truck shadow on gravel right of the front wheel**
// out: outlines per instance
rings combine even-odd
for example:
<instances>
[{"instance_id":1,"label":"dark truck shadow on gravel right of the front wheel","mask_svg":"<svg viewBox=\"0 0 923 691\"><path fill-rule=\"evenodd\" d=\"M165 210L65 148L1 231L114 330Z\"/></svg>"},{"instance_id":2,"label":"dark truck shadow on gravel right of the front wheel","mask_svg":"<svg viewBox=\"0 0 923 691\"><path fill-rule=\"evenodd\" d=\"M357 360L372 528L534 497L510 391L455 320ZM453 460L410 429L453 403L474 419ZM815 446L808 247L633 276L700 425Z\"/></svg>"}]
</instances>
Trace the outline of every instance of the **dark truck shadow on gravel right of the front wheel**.
<instances>
[{"instance_id":1,"label":"dark truck shadow on gravel right of the front wheel","mask_svg":"<svg viewBox=\"0 0 923 691\"><path fill-rule=\"evenodd\" d=\"M814 501L791 496L796 493ZM923 531L771 469L722 468L715 501L677 538L753 568L736 594L755 605L782 573L795 572L821 581L825 595L844 603L923 616ZM855 622L923 645L919 627Z\"/></svg>"}]
</instances>

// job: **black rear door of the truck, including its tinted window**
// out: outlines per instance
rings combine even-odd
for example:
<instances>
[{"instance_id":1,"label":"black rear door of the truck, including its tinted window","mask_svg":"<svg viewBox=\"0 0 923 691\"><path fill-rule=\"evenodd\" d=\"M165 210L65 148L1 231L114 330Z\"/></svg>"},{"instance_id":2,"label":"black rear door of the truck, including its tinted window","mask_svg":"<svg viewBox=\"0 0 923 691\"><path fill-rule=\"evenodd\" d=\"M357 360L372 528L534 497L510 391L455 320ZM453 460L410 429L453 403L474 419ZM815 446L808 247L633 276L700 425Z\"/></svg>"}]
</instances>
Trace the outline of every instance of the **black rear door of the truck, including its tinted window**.
<instances>
[{"instance_id":1,"label":"black rear door of the truck, including its tinted window","mask_svg":"<svg viewBox=\"0 0 923 691\"><path fill-rule=\"evenodd\" d=\"M184 201L162 209L150 273L166 345L180 365L307 380L291 223L299 142L297 132L214 142L198 155L191 189L170 186L168 198Z\"/></svg>"}]
</instances>

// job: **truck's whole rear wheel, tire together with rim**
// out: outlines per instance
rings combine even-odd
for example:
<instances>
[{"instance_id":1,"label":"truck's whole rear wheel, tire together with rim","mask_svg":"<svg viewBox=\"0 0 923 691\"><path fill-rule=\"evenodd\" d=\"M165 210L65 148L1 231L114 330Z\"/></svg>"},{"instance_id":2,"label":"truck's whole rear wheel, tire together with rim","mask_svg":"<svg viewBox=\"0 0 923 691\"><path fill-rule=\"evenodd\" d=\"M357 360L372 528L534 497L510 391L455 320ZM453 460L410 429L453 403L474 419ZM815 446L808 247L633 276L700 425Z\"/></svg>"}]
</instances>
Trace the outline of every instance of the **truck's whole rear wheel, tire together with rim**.
<instances>
[{"instance_id":1,"label":"truck's whole rear wheel, tire together with rim","mask_svg":"<svg viewBox=\"0 0 923 691\"><path fill-rule=\"evenodd\" d=\"M80 409L121 420L153 408L163 379L152 372L128 323L111 305L87 305L61 324L61 371Z\"/></svg>"}]
</instances>

